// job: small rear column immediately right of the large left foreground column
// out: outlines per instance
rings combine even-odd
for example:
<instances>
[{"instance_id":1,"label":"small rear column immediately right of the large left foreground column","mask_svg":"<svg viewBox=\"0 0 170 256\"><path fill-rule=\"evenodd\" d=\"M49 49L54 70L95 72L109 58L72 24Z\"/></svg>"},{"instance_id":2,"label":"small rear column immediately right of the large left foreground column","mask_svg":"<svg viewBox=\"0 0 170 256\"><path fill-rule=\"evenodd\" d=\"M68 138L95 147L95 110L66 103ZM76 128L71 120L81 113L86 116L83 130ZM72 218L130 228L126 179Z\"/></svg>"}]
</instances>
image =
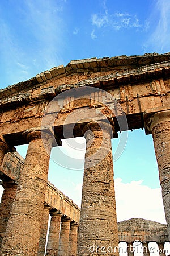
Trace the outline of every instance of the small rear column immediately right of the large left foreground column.
<instances>
[{"instance_id":1,"label":"small rear column immediately right of the large left foreground column","mask_svg":"<svg viewBox=\"0 0 170 256\"><path fill-rule=\"evenodd\" d=\"M42 213L42 220L41 220L39 251L38 251L37 256L44 256L44 253L45 253L46 234L48 231L48 220L49 220L50 209L51 209L51 207L49 207L48 205L44 205L44 210Z\"/></svg>"}]
</instances>

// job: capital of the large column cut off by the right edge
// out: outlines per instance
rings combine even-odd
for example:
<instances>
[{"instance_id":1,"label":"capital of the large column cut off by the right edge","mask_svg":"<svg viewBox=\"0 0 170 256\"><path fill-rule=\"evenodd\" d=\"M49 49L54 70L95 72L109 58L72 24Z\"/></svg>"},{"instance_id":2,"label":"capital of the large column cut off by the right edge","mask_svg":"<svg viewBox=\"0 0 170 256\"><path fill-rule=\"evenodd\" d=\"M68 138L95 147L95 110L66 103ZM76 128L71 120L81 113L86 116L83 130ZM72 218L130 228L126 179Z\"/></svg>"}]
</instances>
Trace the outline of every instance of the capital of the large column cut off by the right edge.
<instances>
[{"instance_id":1,"label":"capital of the large column cut off by the right edge","mask_svg":"<svg viewBox=\"0 0 170 256\"><path fill-rule=\"evenodd\" d=\"M162 110L154 113L151 112L151 110L146 110L144 113L144 118L146 134L151 134L152 129L156 125L170 120L170 110Z\"/></svg>"}]
</instances>

